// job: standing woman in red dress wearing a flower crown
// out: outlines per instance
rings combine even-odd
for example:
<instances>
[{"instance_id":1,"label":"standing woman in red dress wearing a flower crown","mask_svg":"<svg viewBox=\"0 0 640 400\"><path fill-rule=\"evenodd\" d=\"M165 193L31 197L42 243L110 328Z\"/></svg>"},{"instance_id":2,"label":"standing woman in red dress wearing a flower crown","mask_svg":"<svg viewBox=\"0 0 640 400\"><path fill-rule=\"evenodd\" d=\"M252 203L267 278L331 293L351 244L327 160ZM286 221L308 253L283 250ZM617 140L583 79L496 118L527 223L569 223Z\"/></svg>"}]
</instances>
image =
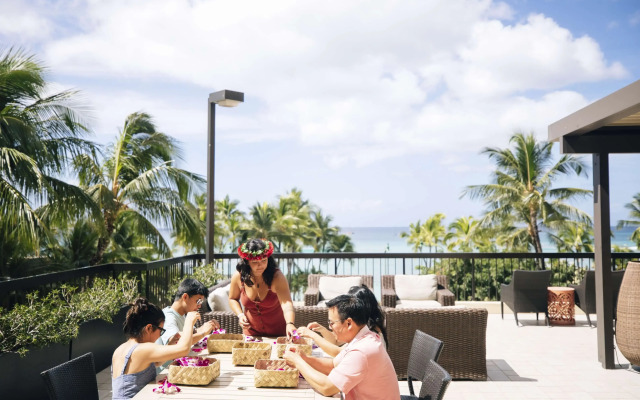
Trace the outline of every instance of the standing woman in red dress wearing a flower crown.
<instances>
[{"instance_id":1,"label":"standing woman in red dress wearing a flower crown","mask_svg":"<svg viewBox=\"0 0 640 400\"><path fill-rule=\"evenodd\" d=\"M289 283L272 254L273 243L266 239L238 247L240 262L231 277L229 305L245 335L291 337L295 330Z\"/></svg>"}]
</instances>

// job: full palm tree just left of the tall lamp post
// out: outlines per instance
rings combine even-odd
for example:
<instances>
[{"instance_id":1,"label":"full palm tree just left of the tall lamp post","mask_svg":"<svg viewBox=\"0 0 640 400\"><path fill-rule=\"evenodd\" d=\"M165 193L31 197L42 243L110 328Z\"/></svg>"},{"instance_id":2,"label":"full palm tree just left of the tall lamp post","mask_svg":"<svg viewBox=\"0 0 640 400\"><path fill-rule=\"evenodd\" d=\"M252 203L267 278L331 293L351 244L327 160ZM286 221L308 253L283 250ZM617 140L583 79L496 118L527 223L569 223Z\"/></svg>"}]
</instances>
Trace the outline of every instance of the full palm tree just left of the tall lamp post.
<instances>
[{"instance_id":1,"label":"full palm tree just left of the tall lamp post","mask_svg":"<svg viewBox=\"0 0 640 400\"><path fill-rule=\"evenodd\" d=\"M118 227L135 229L137 237L162 256L171 250L159 226L193 235L201 232L201 221L186 205L204 179L176 168L174 160L180 158L174 139L158 132L151 116L142 112L126 118L102 165L88 157L76 158L80 185L101 213L92 265L102 262Z\"/></svg>"}]
</instances>

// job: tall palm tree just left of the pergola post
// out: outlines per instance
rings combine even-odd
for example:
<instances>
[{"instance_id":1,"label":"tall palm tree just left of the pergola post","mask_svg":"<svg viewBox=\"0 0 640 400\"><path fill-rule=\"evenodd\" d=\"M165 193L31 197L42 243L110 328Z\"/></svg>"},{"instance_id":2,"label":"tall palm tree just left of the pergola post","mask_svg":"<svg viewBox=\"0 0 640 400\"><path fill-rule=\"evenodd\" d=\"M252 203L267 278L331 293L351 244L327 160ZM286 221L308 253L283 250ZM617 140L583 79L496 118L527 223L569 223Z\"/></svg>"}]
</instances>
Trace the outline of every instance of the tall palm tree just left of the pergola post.
<instances>
[{"instance_id":1,"label":"tall palm tree just left of the pergola post","mask_svg":"<svg viewBox=\"0 0 640 400\"><path fill-rule=\"evenodd\" d=\"M526 228L528 241L537 253L542 252L542 226L556 228L569 221L590 223L587 214L566 201L591 194L590 190L553 188L561 175L580 176L585 164L572 155L563 155L553 163L550 142L537 142L533 134L514 134L514 149L485 148L482 153L493 160L497 169L492 183L468 186L463 196L481 198L487 211L483 226L499 226L511 219Z\"/></svg>"}]
</instances>

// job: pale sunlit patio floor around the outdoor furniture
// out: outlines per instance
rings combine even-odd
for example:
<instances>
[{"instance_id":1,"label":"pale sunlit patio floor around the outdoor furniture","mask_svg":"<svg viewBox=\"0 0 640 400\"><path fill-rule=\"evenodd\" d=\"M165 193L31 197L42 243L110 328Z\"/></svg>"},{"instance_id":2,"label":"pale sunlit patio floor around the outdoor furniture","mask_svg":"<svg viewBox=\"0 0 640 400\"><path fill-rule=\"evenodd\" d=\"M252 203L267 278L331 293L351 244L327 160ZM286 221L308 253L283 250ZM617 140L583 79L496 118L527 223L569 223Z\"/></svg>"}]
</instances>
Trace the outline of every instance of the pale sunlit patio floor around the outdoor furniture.
<instances>
[{"instance_id":1,"label":"pale sunlit patio floor around the outdoor furniture","mask_svg":"<svg viewBox=\"0 0 640 400\"><path fill-rule=\"evenodd\" d=\"M596 329L587 325L584 315L576 315L576 326L554 327L545 326L542 318L537 322L535 314L518 317L520 327L512 313L505 313L504 320L500 314L489 314L489 380L453 381L446 400L640 399L640 374L628 370L619 351L616 369L601 367ZM595 315L592 321L597 323ZM409 393L406 381L399 385L402 394ZM109 368L98 373L98 386L100 399L111 399Z\"/></svg>"}]
</instances>

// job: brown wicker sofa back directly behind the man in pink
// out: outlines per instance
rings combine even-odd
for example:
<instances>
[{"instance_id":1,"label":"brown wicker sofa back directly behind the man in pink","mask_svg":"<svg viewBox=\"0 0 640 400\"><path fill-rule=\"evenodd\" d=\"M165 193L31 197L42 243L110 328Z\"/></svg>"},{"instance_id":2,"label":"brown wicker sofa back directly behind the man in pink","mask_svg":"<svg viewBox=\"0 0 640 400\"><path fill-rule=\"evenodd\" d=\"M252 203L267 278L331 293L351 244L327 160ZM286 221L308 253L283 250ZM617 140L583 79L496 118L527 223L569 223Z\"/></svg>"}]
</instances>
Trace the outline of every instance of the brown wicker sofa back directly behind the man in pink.
<instances>
[{"instance_id":1,"label":"brown wicker sofa back directly behind the man in pink","mask_svg":"<svg viewBox=\"0 0 640 400\"><path fill-rule=\"evenodd\" d=\"M438 362L453 379L487 380L487 318L484 308L384 308L387 352L398 379L407 379L417 329L443 342Z\"/></svg>"}]
</instances>

